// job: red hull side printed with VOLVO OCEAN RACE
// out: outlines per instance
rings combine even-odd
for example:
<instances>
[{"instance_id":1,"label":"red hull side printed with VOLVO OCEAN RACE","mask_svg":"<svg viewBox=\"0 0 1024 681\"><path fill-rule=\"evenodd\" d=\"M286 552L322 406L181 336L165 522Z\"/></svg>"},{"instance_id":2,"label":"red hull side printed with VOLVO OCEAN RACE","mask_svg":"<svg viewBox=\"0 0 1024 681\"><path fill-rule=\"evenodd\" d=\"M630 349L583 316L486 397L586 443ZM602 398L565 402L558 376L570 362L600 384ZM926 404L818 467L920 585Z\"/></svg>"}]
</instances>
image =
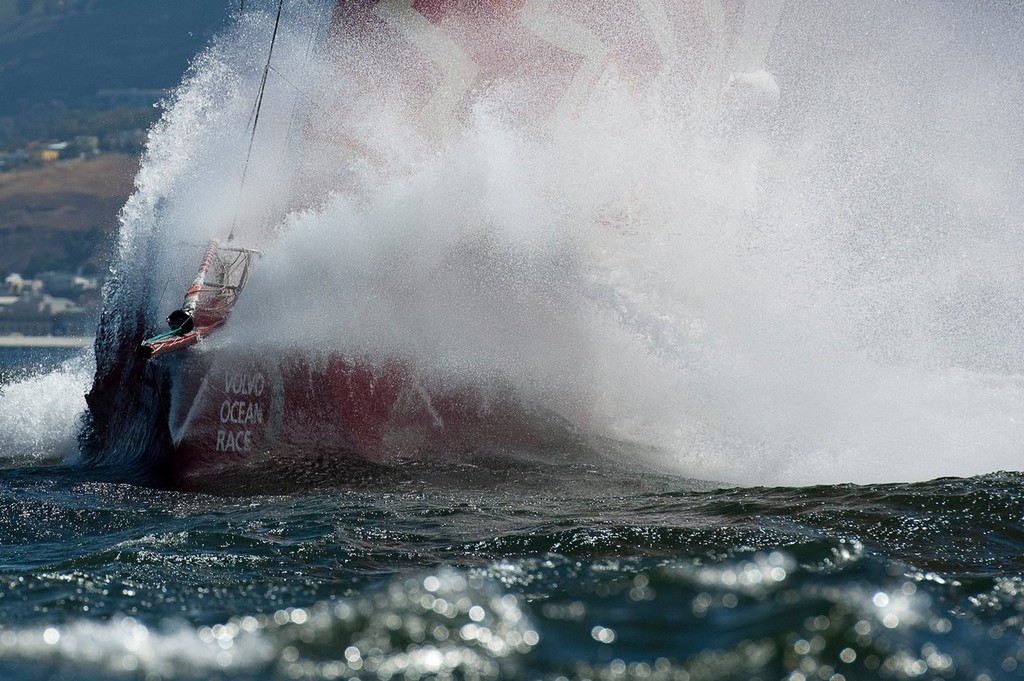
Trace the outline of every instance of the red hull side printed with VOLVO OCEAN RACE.
<instances>
[{"instance_id":1,"label":"red hull side printed with VOLVO OCEAN RACE","mask_svg":"<svg viewBox=\"0 0 1024 681\"><path fill-rule=\"evenodd\" d=\"M172 483L211 490L221 476L270 464L393 464L536 445L552 433L550 417L537 416L508 391L427 385L397 363L194 352L172 391ZM261 482L273 491L272 481Z\"/></svg>"}]
</instances>

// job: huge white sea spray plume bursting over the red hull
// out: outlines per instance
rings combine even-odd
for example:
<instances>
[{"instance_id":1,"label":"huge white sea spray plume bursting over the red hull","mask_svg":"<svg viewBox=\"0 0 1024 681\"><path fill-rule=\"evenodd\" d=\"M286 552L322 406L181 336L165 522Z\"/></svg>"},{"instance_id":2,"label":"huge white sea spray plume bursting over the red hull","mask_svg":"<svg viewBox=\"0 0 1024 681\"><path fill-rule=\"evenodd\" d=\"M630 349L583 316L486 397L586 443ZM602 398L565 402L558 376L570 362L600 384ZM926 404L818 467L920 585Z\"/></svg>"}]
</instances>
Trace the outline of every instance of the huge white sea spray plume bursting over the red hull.
<instances>
[{"instance_id":1,"label":"huge white sea spray plume bursting over the red hull","mask_svg":"<svg viewBox=\"0 0 1024 681\"><path fill-rule=\"evenodd\" d=\"M1018 465L1019 10L529 2L427 17L463 40L428 54L398 4L282 68L319 85L267 118L243 204L280 241L215 346L502 376L730 481Z\"/></svg>"}]
</instances>

